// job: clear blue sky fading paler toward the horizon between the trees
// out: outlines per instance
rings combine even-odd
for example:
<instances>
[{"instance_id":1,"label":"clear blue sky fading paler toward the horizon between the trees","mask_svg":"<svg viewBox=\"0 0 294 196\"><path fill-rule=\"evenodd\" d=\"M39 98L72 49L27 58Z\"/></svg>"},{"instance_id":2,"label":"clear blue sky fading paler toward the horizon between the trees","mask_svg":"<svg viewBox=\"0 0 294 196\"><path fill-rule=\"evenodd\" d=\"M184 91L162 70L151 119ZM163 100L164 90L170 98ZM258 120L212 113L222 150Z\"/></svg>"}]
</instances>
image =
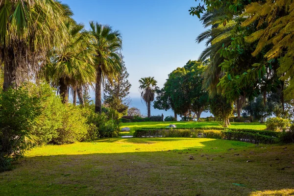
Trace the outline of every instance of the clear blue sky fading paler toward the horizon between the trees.
<instances>
[{"instance_id":1,"label":"clear blue sky fading paler toward the horizon between the trees","mask_svg":"<svg viewBox=\"0 0 294 196\"><path fill-rule=\"evenodd\" d=\"M204 49L204 44L195 43L204 28L188 11L196 5L195 0L62 2L71 7L73 18L84 23L86 29L89 29L89 21L97 21L121 31L124 61L132 84L130 96L134 100L140 97L138 80L141 77L154 76L162 88L169 73L190 59L196 60Z\"/></svg>"}]
</instances>

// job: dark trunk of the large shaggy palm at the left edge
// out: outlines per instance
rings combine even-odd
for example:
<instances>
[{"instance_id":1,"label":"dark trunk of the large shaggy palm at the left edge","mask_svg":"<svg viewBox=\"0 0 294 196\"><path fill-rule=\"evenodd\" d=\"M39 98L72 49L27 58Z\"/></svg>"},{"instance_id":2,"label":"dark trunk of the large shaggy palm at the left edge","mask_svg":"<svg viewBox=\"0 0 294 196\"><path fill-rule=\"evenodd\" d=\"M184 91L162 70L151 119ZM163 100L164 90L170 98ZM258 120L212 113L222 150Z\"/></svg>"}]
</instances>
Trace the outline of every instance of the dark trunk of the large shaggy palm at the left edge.
<instances>
[{"instance_id":1,"label":"dark trunk of the large shaggy palm at the left edge","mask_svg":"<svg viewBox=\"0 0 294 196\"><path fill-rule=\"evenodd\" d=\"M15 56L12 49L8 49L8 56L4 58L4 81L3 90L7 91L9 87L16 88L16 75L15 75Z\"/></svg>"}]
</instances>

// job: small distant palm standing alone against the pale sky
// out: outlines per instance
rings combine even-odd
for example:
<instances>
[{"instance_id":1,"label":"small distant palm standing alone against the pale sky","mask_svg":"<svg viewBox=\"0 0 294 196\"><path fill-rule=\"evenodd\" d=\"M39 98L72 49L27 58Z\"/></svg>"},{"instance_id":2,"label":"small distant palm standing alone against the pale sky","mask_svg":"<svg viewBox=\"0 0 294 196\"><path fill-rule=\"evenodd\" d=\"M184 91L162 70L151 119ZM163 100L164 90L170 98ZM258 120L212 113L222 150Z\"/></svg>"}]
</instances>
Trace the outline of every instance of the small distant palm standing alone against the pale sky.
<instances>
[{"instance_id":1,"label":"small distant palm standing alone against the pale sky","mask_svg":"<svg viewBox=\"0 0 294 196\"><path fill-rule=\"evenodd\" d=\"M156 90L158 90L157 81L154 77L143 77L139 80L140 86L139 91L141 98L146 102L148 109L148 118L150 118L150 103L154 100Z\"/></svg>"}]
</instances>

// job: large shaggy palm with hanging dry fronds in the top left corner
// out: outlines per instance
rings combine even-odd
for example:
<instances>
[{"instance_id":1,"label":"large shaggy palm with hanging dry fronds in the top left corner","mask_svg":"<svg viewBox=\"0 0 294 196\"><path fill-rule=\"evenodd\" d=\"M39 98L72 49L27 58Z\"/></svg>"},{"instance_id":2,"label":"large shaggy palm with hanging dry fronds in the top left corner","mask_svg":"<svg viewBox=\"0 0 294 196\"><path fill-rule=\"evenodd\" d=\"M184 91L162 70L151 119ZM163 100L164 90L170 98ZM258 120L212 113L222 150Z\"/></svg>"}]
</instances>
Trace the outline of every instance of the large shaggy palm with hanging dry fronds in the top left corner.
<instances>
[{"instance_id":1,"label":"large shaggy palm with hanging dry fronds in the top left corner","mask_svg":"<svg viewBox=\"0 0 294 196\"><path fill-rule=\"evenodd\" d=\"M55 0L0 0L4 90L37 73L50 49L61 49L68 35L63 21L70 15L69 7Z\"/></svg>"}]
</instances>

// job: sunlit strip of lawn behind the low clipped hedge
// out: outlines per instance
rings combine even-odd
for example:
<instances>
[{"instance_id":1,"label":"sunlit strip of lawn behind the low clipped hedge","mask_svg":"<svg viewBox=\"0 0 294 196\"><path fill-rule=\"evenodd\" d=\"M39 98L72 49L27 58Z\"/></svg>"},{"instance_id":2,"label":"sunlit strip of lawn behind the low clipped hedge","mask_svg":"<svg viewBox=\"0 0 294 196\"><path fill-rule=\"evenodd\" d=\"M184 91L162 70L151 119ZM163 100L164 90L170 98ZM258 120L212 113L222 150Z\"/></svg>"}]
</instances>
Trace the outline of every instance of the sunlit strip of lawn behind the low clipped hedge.
<instances>
[{"instance_id":1,"label":"sunlit strip of lawn behind the low clipped hedge","mask_svg":"<svg viewBox=\"0 0 294 196\"><path fill-rule=\"evenodd\" d=\"M133 135L134 131L138 128L164 128L170 124L175 124L179 128L196 128L196 127L221 127L219 122L138 122L138 123L122 123L121 128L129 127L130 132L121 132L121 135ZM261 123L231 123L229 128L241 128L241 129L256 129L264 130L266 128L265 124Z\"/></svg>"}]
</instances>

